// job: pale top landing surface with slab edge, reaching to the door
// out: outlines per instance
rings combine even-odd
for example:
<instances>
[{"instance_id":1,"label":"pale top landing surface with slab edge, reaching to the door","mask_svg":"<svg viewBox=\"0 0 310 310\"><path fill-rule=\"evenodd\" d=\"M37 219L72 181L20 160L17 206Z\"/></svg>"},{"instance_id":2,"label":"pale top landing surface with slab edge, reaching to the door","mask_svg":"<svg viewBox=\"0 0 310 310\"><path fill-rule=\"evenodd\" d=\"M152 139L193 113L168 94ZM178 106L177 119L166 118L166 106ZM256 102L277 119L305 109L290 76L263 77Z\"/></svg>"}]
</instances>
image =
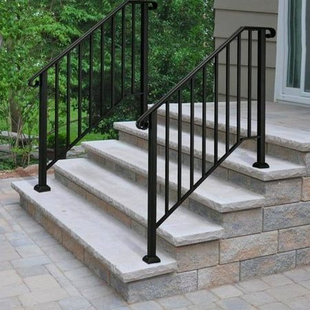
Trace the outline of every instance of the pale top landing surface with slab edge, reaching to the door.
<instances>
[{"instance_id":1,"label":"pale top landing surface with slab edge, reaching to the door","mask_svg":"<svg viewBox=\"0 0 310 310\"><path fill-rule=\"evenodd\" d=\"M218 103L218 129L225 132L225 103ZM196 125L203 123L203 105L195 103L194 119ZM269 103L266 112L266 142L290 149L295 149L300 152L310 152L310 127L307 131L306 127L299 126L298 121L304 122L304 117L310 113L310 109L304 109L296 112L297 107L291 108L290 105L279 103ZM185 122L190 121L190 104L183 103L182 119ZM298 110L298 109L297 109ZM309 112L307 112L309 110ZM299 111L299 110L298 110ZM282 114L281 114L282 112ZM306 113L303 114L302 113ZM158 114L165 115L165 105L158 110ZM300 115L301 114L301 115ZM214 127L214 103L207 103L207 127ZM170 103L170 117L178 118L178 105ZM309 116L307 116L309 119ZM252 134L256 136L256 102L253 102L252 107ZM300 129L302 128L302 129ZM236 134L236 102L230 103L230 132ZM241 134L247 135L247 103L241 103Z\"/></svg>"}]
</instances>

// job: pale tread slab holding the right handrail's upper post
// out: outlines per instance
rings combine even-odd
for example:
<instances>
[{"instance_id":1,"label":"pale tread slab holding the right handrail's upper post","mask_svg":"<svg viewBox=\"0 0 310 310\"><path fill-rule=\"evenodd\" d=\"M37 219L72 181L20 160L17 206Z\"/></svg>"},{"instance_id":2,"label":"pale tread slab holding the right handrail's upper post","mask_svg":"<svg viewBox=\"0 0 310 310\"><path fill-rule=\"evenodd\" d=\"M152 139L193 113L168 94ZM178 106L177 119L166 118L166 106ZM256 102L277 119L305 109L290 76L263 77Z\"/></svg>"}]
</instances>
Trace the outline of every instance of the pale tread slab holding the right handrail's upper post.
<instances>
[{"instance_id":1,"label":"pale tread slab holding the right handrail's upper post","mask_svg":"<svg viewBox=\"0 0 310 310\"><path fill-rule=\"evenodd\" d=\"M138 130L136 123L134 122L118 122L114 123L116 130L132 134L141 138L147 139L147 130ZM165 126L158 124L157 128L158 143L165 145ZM177 149L178 145L178 131L174 128L169 130L169 143L170 147ZM190 135L187 132L182 133L183 141L183 152L189 154L189 141ZM210 138L206 139L207 144L207 160L213 161L213 149L214 141ZM212 152L210 152L210 149ZM194 136L194 150L195 156L201 158L202 150L202 138L201 136ZM218 141L218 157L225 154L225 143ZM229 169L233 169L236 172L249 175L259 180L280 180L282 178L295 178L298 176L304 176L307 174L307 168L298 165L296 163L291 163L290 161L285 161L280 158L275 158L273 156L266 155L266 161L269 164L269 169L258 169L254 168L252 165L256 162L256 152L249 149L243 149L238 147L234 152L223 162L222 166Z\"/></svg>"}]
</instances>

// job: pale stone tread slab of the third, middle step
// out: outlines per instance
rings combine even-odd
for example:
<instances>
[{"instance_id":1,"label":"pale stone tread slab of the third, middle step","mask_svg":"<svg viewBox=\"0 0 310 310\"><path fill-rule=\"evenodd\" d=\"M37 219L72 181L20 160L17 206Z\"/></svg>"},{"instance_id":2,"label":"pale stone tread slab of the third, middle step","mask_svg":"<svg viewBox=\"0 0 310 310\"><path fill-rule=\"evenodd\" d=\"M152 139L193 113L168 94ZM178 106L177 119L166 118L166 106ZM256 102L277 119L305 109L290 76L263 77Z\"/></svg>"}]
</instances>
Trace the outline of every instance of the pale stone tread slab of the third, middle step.
<instances>
[{"instance_id":1,"label":"pale stone tread slab of the third, middle step","mask_svg":"<svg viewBox=\"0 0 310 310\"><path fill-rule=\"evenodd\" d=\"M85 142L83 147L88 152L94 152L98 156L108 158L114 163L147 176L147 152L141 148L116 140ZM161 156L158 156L157 166L158 182L165 184L165 160ZM176 189L178 167L172 161L169 166L170 184ZM189 188L189 167L183 165L182 176L183 187L187 190ZM200 174L196 171L195 180L199 178ZM216 176L209 176L191 197L220 212L260 207L265 201L264 196Z\"/></svg>"}]
</instances>

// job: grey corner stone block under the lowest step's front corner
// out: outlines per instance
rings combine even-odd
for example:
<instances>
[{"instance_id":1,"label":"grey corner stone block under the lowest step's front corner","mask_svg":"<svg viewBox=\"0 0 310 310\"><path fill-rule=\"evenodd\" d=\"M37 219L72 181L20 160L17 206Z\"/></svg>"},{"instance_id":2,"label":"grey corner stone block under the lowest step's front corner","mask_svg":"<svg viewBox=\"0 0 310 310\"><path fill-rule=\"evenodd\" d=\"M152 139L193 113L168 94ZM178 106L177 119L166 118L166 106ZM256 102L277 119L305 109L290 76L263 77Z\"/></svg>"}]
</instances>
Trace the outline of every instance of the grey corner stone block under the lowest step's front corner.
<instances>
[{"instance_id":1,"label":"grey corner stone block under the lowest step's front corner","mask_svg":"<svg viewBox=\"0 0 310 310\"><path fill-rule=\"evenodd\" d=\"M134 303L196 291L197 271L171 273L130 283L123 283L111 274L111 285L127 302Z\"/></svg>"}]
</instances>

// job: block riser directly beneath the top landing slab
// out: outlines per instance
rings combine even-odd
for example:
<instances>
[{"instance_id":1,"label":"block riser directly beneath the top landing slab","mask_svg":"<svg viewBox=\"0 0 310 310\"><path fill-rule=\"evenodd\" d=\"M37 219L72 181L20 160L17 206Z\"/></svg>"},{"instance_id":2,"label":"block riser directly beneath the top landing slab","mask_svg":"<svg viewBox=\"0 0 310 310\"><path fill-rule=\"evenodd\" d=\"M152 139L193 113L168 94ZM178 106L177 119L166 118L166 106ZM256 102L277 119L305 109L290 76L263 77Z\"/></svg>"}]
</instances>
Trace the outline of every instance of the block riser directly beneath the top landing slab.
<instances>
[{"instance_id":1,"label":"block riser directly beneath the top landing slab","mask_svg":"<svg viewBox=\"0 0 310 310\"><path fill-rule=\"evenodd\" d=\"M165 125L165 116L158 114L158 123ZM169 119L170 126L174 129L178 128L178 120L174 117ZM190 125L187 121L182 122L182 129L184 132L190 132ZM195 134L202 135L202 125L195 123L194 125ZM245 136L245 132L242 131L242 136ZM214 127L207 126L206 129L207 138L214 138ZM218 141L223 143L226 142L226 132L223 130L218 130ZM229 134L229 143L233 145L237 141L236 132L231 132ZM249 149L251 151L256 151L257 142L256 140L249 140L242 143L242 148ZM277 158L284 159L285 161L291 161L292 163L297 163L298 165L305 165L308 168L307 175L310 175L310 153L309 152L300 152L297 149L291 149L282 145L278 145L272 142L266 143L266 154L274 156Z\"/></svg>"}]
</instances>

